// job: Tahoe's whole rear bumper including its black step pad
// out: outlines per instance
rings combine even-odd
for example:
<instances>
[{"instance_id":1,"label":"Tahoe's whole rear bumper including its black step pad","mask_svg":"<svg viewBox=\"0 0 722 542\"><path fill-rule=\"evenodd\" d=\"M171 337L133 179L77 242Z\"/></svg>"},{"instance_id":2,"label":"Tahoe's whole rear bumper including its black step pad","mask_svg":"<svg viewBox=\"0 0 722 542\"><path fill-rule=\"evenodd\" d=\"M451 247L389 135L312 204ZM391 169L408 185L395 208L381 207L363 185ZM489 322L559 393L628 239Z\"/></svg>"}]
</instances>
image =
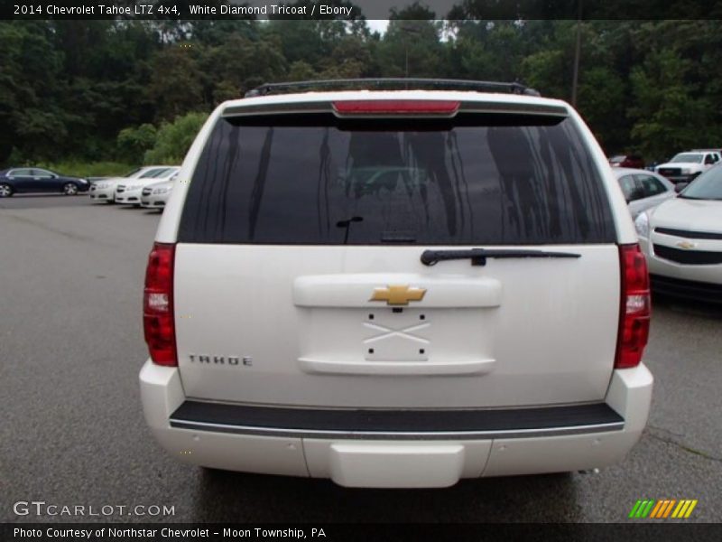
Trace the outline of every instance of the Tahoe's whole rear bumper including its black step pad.
<instances>
[{"instance_id":1,"label":"Tahoe's whole rear bumper including its black step pad","mask_svg":"<svg viewBox=\"0 0 722 542\"><path fill-rule=\"evenodd\" d=\"M445 487L617 463L642 435L653 387L641 365L616 370L597 405L384 416L190 401L178 369L150 361L140 380L146 422L181 462L349 487Z\"/></svg>"}]
</instances>

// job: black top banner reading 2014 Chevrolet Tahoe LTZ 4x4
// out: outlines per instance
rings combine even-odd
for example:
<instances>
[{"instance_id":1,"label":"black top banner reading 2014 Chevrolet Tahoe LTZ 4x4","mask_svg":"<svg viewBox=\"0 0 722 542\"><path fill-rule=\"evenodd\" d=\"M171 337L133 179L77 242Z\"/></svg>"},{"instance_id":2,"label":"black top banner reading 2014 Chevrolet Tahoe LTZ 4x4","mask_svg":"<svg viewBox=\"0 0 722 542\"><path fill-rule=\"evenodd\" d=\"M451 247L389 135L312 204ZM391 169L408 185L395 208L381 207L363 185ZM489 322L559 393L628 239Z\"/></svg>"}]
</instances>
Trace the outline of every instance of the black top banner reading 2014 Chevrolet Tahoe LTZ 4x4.
<instances>
[{"instance_id":1,"label":"black top banner reading 2014 Chevrolet Tahoe LTZ 4x4","mask_svg":"<svg viewBox=\"0 0 722 542\"><path fill-rule=\"evenodd\" d=\"M722 20L713 0L424 0L438 19L452 20ZM0 18L341 19L412 18L414 0L0 0ZM407 16L399 16L403 12Z\"/></svg>"}]
</instances>

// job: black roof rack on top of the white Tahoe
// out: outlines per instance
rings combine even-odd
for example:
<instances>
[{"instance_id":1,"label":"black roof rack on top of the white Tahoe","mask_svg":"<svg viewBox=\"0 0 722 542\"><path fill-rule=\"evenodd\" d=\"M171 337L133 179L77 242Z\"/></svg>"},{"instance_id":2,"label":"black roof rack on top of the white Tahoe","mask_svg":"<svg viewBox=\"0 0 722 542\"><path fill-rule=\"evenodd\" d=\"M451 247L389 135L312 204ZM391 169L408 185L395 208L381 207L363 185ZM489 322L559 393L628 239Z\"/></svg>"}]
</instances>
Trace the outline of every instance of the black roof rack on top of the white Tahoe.
<instances>
[{"instance_id":1,"label":"black roof rack on top of the white Tahoe","mask_svg":"<svg viewBox=\"0 0 722 542\"><path fill-rule=\"evenodd\" d=\"M245 98L267 96L269 94L283 94L298 90L312 89L382 89L396 87L396 89L463 89L486 92L508 92L511 94L525 94L527 96L541 96L534 89L525 87L522 83L500 83L496 81L474 81L466 79L416 79L416 78L374 78L374 79L319 79L310 81L289 81L285 83L264 83L260 87L248 90Z\"/></svg>"}]
</instances>

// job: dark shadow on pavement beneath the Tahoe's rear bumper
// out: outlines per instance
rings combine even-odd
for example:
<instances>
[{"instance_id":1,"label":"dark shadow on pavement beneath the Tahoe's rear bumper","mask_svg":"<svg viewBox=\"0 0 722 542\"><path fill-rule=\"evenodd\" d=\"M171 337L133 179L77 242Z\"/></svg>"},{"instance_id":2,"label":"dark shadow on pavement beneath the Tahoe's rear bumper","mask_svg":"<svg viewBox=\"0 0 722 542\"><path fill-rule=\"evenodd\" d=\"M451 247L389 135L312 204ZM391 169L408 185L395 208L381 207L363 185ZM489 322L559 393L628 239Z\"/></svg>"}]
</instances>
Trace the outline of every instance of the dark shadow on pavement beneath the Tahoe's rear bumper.
<instances>
[{"instance_id":1,"label":"dark shadow on pavement beneath the Tahoe's rear bumper","mask_svg":"<svg viewBox=\"0 0 722 542\"><path fill-rule=\"evenodd\" d=\"M359 490L326 480L200 469L190 515L200 522L579 521L576 476L465 480L448 489Z\"/></svg>"}]
</instances>

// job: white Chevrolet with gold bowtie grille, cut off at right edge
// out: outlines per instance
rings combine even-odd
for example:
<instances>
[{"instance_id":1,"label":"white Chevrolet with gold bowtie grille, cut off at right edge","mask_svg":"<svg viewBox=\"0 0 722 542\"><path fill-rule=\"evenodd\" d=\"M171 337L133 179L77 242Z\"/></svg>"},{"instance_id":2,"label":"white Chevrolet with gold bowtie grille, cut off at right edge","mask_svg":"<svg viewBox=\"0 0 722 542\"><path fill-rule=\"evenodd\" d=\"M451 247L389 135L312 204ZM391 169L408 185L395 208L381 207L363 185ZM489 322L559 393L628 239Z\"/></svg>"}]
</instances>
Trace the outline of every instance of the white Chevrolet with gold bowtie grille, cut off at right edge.
<instances>
[{"instance_id":1,"label":"white Chevrolet with gold bowtie grille, cut off at right edge","mask_svg":"<svg viewBox=\"0 0 722 542\"><path fill-rule=\"evenodd\" d=\"M634 224L655 291L722 303L722 165Z\"/></svg>"}]
</instances>

